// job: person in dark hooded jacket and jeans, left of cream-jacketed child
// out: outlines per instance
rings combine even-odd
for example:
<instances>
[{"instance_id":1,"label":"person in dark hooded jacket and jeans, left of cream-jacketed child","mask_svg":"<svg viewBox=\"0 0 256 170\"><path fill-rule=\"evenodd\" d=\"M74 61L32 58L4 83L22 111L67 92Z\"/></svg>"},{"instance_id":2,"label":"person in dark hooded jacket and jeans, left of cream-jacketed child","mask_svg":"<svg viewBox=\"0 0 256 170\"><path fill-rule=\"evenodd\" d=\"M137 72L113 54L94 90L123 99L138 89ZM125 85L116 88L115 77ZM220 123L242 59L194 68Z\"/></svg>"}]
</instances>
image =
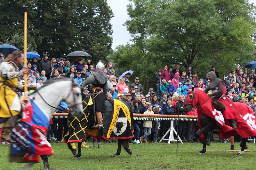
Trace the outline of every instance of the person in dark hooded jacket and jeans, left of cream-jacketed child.
<instances>
[{"instance_id":1,"label":"person in dark hooded jacket and jeans, left of cream-jacketed child","mask_svg":"<svg viewBox=\"0 0 256 170\"><path fill-rule=\"evenodd\" d=\"M140 102L138 100L134 100L132 104L134 106L133 113L140 113L140 110L139 110ZM133 120L133 127L134 127L134 132L133 132L134 137L132 138L133 144L140 144L140 124L141 124L141 121Z\"/></svg>"}]
</instances>

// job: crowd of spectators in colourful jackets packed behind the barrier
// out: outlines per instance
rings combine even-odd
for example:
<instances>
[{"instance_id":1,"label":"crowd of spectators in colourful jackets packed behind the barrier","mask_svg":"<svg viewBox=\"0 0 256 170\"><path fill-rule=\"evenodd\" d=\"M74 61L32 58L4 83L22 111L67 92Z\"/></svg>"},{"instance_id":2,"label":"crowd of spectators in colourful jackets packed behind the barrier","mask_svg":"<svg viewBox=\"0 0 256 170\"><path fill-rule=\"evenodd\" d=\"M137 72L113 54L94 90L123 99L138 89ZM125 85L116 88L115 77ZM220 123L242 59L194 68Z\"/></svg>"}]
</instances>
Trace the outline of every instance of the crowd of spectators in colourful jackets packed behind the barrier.
<instances>
[{"instance_id":1,"label":"crowd of spectators in colourful jackets packed behind the barrier","mask_svg":"<svg viewBox=\"0 0 256 170\"><path fill-rule=\"evenodd\" d=\"M192 65L189 65L184 71L180 69L179 64L176 64L175 67L169 66L169 68L168 65L165 65L163 70L159 69L157 71L155 77L156 91L153 88L149 88L148 92L146 92L139 83L139 77L135 77L133 81L129 79L131 74L127 73L117 79L115 70L113 69L113 63L108 62L105 65L104 61L100 61L104 64L104 73L108 77L108 93L106 99L118 99L127 102L131 105L133 113L175 115L177 114L177 110L179 110L180 115L196 116L196 111L186 112L183 110L184 99L188 90L192 87L204 90L210 83L210 80L207 79L207 73L205 73L204 77L199 78ZM40 62L36 58L33 58L28 62L28 68L27 84L28 86L36 85L37 88L42 87L44 81L64 76L75 79L77 85L81 86L83 81L95 71L94 66L91 64L91 59L87 59L85 63L79 57L75 57L73 62L64 58L52 58L52 60L49 60L47 54L44 54ZM217 77L220 76L214 66L209 71L214 71ZM25 83L23 78L20 80L21 83ZM248 72L247 68L241 70L239 67L236 67L236 70L231 71L227 75L227 78L223 80L227 97L233 100L233 102L248 104L255 112L255 79L255 73ZM88 94L90 87L83 89L83 92L85 91ZM207 94L211 94L211 90ZM56 125L58 123L59 127L66 127L64 122L64 119L53 119L52 136L48 136L48 140L55 139L58 142L60 141L61 135L57 131ZM174 122L175 128L177 128L176 124ZM158 139L162 138L169 128L170 121L134 121L134 138L132 138L131 142L134 144L141 142L148 143L148 137L149 140L157 143ZM198 139L194 137L194 133L197 130L197 122L180 121L178 135L183 142L198 142ZM167 134L165 138L168 139L169 135ZM236 140L239 141L239 137L236 137ZM219 141L227 143L225 139L220 139Z\"/></svg>"}]
</instances>

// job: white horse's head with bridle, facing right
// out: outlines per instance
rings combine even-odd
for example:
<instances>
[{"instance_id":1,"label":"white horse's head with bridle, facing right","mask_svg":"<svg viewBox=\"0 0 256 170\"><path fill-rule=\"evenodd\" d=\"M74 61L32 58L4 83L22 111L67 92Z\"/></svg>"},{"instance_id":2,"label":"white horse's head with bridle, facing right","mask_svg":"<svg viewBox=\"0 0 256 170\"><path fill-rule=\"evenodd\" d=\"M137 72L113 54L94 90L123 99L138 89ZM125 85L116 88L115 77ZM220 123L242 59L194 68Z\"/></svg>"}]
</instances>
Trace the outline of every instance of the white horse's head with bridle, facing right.
<instances>
[{"instance_id":1,"label":"white horse's head with bridle, facing right","mask_svg":"<svg viewBox=\"0 0 256 170\"><path fill-rule=\"evenodd\" d=\"M77 83L74 79L70 80L71 88L69 90L68 96L64 98L63 101L68 104L68 108L73 115L79 116L83 111L81 89L77 86Z\"/></svg>"}]
</instances>

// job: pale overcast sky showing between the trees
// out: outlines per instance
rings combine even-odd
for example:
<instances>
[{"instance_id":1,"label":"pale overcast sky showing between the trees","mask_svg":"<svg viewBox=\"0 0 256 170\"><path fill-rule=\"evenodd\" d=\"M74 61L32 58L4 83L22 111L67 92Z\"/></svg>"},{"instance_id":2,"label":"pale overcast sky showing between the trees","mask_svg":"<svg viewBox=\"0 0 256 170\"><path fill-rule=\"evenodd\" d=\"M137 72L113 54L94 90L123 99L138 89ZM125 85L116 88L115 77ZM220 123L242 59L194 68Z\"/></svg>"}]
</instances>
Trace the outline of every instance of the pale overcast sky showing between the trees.
<instances>
[{"instance_id":1,"label":"pale overcast sky showing between the trees","mask_svg":"<svg viewBox=\"0 0 256 170\"><path fill-rule=\"evenodd\" d=\"M129 4L128 0L107 0L108 5L111 7L114 17L111 19L112 29L113 29L113 44L112 49L114 49L119 44L126 44L130 42L132 38L126 27L123 26L125 20L128 18L126 11L126 6ZM250 3L256 5L256 0L249 0Z\"/></svg>"}]
</instances>

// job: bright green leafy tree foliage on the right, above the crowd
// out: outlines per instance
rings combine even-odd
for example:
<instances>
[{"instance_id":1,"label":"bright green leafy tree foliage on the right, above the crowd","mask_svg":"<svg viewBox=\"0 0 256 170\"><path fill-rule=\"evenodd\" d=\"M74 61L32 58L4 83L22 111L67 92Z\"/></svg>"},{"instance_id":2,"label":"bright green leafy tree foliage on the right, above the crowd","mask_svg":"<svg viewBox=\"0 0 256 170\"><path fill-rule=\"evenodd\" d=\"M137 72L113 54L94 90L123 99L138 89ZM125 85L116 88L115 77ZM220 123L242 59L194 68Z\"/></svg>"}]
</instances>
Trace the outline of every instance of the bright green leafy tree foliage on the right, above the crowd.
<instances>
[{"instance_id":1,"label":"bright green leafy tree foliage on the right, above the crowd","mask_svg":"<svg viewBox=\"0 0 256 170\"><path fill-rule=\"evenodd\" d=\"M193 64L201 76L214 65L223 76L253 60L255 8L248 0L130 1L124 25L133 44L116 47L112 58L119 67L146 78L164 64L184 70Z\"/></svg>"}]
</instances>

